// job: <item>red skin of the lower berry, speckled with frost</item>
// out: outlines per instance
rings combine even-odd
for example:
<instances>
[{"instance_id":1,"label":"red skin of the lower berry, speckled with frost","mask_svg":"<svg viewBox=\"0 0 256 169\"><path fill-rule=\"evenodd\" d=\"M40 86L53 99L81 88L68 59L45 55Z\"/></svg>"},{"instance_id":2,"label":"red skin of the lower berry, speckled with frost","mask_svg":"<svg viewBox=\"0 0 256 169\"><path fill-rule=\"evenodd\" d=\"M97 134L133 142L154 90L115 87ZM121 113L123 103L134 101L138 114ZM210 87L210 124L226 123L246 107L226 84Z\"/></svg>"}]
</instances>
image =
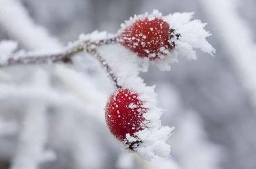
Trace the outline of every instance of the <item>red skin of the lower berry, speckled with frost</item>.
<instances>
[{"instance_id":1,"label":"red skin of the lower berry, speckled with frost","mask_svg":"<svg viewBox=\"0 0 256 169\"><path fill-rule=\"evenodd\" d=\"M125 141L126 134L134 133L145 128L143 113L147 109L138 98L138 94L130 89L118 89L106 105L106 124L111 133L120 141Z\"/></svg>"}]
</instances>

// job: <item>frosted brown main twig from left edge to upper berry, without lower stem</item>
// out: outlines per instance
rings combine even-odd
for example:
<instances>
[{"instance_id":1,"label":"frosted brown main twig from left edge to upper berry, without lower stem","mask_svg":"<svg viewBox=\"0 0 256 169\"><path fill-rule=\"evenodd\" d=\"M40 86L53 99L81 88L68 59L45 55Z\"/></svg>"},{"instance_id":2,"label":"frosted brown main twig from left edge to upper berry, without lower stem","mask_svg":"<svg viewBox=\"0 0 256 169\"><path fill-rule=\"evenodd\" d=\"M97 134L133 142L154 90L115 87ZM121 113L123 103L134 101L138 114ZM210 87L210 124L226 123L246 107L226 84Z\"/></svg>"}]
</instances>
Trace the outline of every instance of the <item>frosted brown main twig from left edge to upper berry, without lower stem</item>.
<instances>
[{"instance_id":1,"label":"frosted brown main twig from left edge to upper berry, without lower stem","mask_svg":"<svg viewBox=\"0 0 256 169\"><path fill-rule=\"evenodd\" d=\"M40 64L40 63L53 63L53 62L72 62L71 57L79 52L88 52L96 54L95 46L106 45L115 43L115 37L108 39L101 39L99 41L85 41L74 42L73 45L69 44L63 52L58 53L45 53L38 52L17 52L12 53L16 47L6 45L6 41L0 44L0 51L7 50L9 53L1 52L0 67L12 66L16 64ZM10 42L8 42L10 43ZM7 48L7 49L6 49ZM1 50L2 49L2 50ZM98 57L98 54L97 54Z\"/></svg>"}]
</instances>

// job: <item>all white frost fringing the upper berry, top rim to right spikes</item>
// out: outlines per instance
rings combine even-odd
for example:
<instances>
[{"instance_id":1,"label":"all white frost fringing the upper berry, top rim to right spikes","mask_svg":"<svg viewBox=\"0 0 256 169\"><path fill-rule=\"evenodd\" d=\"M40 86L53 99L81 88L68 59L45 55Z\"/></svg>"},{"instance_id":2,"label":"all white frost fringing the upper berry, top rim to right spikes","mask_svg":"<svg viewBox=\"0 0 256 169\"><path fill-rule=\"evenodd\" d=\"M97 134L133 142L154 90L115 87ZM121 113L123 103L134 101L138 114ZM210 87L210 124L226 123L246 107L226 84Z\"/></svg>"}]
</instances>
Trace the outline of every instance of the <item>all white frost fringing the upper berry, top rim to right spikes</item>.
<instances>
[{"instance_id":1,"label":"all white frost fringing the upper berry, top rim to right spikes","mask_svg":"<svg viewBox=\"0 0 256 169\"><path fill-rule=\"evenodd\" d=\"M191 20L193 14L194 13L173 13L168 16L162 16L162 13L158 12L158 10L153 10L151 14L145 13L144 15L134 15L134 17L130 17L129 20L121 24L118 34L122 33L127 27L130 27L136 20L143 20L145 18L148 18L149 20L155 18L165 20L169 23L170 28L175 29L175 32L172 33L173 35L180 34L178 39L170 39L169 43L175 42L175 48L172 49L172 51L168 51L168 49L165 48L160 49L163 53L159 55L161 59L151 61L147 57L139 59L142 62L143 71L147 71L150 63L155 64L160 70L170 70L170 63L177 62L178 56L184 56L189 60L195 60L196 53L194 49L200 49L202 52L209 53L210 55L213 55L215 52L215 49L206 40L206 38L211 35L204 29L206 24L201 23L200 20ZM154 28L152 28L151 31L152 30L154 30ZM138 58L137 56L135 57ZM154 55L150 55L150 57L154 57Z\"/></svg>"}]
</instances>

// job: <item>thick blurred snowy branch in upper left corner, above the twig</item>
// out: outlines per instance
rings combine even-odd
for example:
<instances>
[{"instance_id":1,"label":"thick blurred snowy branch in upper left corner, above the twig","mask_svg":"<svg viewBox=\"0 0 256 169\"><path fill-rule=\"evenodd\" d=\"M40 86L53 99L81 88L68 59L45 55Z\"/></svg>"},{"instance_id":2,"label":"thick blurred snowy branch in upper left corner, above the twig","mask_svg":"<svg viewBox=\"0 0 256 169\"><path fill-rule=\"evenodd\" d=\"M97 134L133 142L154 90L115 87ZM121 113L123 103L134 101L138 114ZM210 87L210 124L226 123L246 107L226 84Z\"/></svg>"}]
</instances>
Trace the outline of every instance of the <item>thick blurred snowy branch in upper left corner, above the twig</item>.
<instances>
[{"instance_id":1,"label":"thick blurred snowy branch in upper left corner, above the twig","mask_svg":"<svg viewBox=\"0 0 256 169\"><path fill-rule=\"evenodd\" d=\"M0 11L0 24L22 44L37 51L61 50L61 45L56 45L58 41L30 19L27 10L19 1L1 0Z\"/></svg>"}]
</instances>

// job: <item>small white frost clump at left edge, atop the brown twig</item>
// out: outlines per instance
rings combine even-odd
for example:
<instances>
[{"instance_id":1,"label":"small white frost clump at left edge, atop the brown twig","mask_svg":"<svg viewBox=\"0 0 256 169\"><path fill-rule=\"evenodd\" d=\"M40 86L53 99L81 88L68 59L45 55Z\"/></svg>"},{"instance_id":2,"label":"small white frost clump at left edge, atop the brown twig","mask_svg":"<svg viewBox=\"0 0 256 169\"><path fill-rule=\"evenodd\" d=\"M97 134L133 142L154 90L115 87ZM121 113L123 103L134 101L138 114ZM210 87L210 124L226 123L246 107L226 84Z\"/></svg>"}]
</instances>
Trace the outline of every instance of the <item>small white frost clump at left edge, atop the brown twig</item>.
<instances>
[{"instance_id":1,"label":"small white frost clump at left edge, atop the brown twig","mask_svg":"<svg viewBox=\"0 0 256 169\"><path fill-rule=\"evenodd\" d=\"M6 64L10 55L16 50L17 42L3 40L0 42L0 64Z\"/></svg>"}]
</instances>

